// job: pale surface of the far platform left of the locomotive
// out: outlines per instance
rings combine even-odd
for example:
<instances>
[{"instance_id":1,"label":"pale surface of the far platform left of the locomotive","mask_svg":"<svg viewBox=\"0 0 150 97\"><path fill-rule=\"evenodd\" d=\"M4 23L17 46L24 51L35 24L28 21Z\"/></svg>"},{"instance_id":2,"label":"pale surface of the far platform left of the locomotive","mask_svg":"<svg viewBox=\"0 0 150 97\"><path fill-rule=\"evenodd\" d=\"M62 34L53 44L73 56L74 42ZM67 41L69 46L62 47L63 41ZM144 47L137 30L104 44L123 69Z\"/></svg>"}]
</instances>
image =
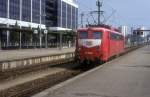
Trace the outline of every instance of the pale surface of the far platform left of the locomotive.
<instances>
[{"instance_id":1,"label":"pale surface of the far platform left of the locomotive","mask_svg":"<svg viewBox=\"0 0 150 97\"><path fill-rule=\"evenodd\" d=\"M75 48L1 50L0 61L74 52Z\"/></svg>"}]
</instances>

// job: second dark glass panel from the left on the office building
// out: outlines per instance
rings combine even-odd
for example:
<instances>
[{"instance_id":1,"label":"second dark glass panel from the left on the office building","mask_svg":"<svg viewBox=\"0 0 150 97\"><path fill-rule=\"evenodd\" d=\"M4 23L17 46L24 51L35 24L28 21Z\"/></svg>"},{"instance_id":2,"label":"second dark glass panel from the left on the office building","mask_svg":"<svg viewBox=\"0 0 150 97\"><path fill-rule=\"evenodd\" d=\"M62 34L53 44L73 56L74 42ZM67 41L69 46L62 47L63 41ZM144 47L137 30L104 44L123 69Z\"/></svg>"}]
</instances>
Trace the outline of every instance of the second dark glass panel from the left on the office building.
<instances>
[{"instance_id":1,"label":"second dark glass panel from the left on the office building","mask_svg":"<svg viewBox=\"0 0 150 97\"><path fill-rule=\"evenodd\" d=\"M20 19L20 0L10 0L10 19Z\"/></svg>"}]
</instances>

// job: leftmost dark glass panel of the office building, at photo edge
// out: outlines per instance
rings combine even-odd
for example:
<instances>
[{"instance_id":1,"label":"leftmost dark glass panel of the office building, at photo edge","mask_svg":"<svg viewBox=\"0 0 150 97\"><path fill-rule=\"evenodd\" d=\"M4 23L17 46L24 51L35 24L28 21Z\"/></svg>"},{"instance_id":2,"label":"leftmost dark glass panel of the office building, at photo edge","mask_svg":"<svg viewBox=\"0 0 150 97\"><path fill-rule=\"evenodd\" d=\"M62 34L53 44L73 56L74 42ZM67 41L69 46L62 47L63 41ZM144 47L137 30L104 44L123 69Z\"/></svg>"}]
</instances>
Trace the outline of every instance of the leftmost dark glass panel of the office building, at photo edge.
<instances>
[{"instance_id":1,"label":"leftmost dark glass panel of the office building, at photo edge","mask_svg":"<svg viewBox=\"0 0 150 97\"><path fill-rule=\"evenodd\" d=\"M7 0L0 0L0 17L7 17Z\"/></svg>"}]
</instances>

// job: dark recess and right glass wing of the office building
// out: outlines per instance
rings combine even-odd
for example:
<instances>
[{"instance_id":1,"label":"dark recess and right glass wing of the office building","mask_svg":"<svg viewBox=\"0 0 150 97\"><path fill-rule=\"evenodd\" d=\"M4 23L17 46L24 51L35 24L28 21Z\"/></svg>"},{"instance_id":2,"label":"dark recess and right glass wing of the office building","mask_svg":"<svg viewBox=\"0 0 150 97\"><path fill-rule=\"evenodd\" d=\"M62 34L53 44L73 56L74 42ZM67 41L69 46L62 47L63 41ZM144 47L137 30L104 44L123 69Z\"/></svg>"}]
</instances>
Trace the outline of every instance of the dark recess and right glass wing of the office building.
<instances>
[{"instance_id":1,"label":"dark recess and right glass wing of the office building","mask_svg":"<svg viewBox=\"0 0 150 97\"><path fill-rule=\"evenodd\" d=\"M77 28L78 5L76 4L75 0L46 1L46 26L48 26L49 29L71 30ZM53 5L49 6L50 2L52 1Z\"/></svg>"}]
</instances>

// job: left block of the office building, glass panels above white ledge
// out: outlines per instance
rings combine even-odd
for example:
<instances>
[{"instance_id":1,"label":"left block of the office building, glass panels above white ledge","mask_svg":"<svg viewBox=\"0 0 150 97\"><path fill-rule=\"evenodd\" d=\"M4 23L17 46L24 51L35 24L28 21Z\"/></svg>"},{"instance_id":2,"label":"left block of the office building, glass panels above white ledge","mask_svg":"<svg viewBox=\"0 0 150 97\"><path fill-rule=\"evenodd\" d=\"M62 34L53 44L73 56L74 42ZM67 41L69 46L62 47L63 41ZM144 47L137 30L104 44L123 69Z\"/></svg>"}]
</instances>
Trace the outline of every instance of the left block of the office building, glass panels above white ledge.
<instances>
[{"instance_id":1,"label":"left block of the office building, glass panels above white ledge","mask_svg":"<svg viewBox=\"0 0 150 97\"><path fill-rule=\"evenodd\" d=\"M0 24L37 28L45 27L45 0L0 0ZM42 17L42 19L40 19Z\"/></svg>"}]
</instances>

